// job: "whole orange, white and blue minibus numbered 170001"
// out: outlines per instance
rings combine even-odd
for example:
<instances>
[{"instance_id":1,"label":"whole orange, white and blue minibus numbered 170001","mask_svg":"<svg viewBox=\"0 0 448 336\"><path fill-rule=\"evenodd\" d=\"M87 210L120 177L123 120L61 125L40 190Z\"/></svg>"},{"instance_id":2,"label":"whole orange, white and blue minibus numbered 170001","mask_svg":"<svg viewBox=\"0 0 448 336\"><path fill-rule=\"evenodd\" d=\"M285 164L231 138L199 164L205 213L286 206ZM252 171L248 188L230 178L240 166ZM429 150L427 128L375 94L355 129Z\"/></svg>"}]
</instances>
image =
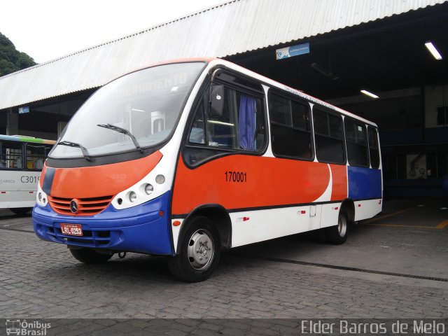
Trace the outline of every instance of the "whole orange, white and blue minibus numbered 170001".
<instances>
[{"instance_id":1,"label":"whole orange, white and blue minibus numbered 170001","mask_svg":"<svg viewBox=\"0 0 448 336\"><path fill-rule=\"evenodd\" d=\"M81 262L169 255L202 281L232 248L310 230L342 244L381 211L377 125L222 59L104 85L45 162L38 237Z\"/></svg>"}]
</instances>

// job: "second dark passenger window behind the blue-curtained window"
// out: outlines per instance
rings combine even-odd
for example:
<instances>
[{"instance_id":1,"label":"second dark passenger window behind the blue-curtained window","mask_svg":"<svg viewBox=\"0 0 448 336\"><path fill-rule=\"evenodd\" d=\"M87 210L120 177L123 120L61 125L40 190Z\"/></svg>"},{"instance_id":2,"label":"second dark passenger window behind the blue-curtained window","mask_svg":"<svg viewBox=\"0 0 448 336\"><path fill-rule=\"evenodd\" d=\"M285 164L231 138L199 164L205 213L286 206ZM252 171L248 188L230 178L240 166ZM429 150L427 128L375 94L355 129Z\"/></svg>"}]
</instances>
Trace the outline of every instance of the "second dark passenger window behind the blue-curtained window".
<instances>
[{"instance_id":1,"label":"second dark passenger window behind the blue-curtained window","mask_svg":"<svg viewBox=\"0 0 448 336\"><path fill-rule=\"evenodd\" d=\"M320 162L345 162L344 126L342 117L314 108L316 157Z\"/></svg>"}]
</instances>

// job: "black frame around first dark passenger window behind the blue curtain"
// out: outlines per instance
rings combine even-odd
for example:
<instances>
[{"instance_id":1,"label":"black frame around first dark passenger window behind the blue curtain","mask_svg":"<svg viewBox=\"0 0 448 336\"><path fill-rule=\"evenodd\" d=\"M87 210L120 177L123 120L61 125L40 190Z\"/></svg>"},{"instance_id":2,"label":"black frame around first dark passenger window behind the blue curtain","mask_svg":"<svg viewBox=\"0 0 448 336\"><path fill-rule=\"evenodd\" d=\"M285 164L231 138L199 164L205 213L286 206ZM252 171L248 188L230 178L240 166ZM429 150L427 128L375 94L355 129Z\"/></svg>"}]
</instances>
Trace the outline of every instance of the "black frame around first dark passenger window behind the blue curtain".
<instances>
[{"instance_id":1,"label":"black frame around first dark passenger window behind the blue curtain","mask_svg":"<svg viewBox=\"0 0 448 336\"><path fill-rule=\"evenodd\" d=\"M315 158L316 158L316 151L315 151L315 146L314 146L314 127L313 127L313 117L312 117L312 113L311 113L311 105L309 104L309 101L307 101L306 99L302 99L301 97L298 97L296 95L293 94L288 94L287 92L283 92L280 90L276 90L276 88L273 87L269 87L269 91L267 92L267 106L269 108L269 102L270 99L272 97L272 94L277 95L283 99L288 99L289 100L289 106L290 106L290 112L291 112L291 126L288 125L283 125L281 123L278 123L276 121L272 121L271 120L271 110L269 109L269 141L271 144L271 148L272 148L272 154L274 155L274 157L276 158L284 158L284 159L291 159L291 160L300 160L300 161L309 161L309 162L314 162ZM293 119L293 112L292 112L292 102L295 102L297 104L301 104L301 105L305 105L308 108L308 115L309 115L309 131L306 130L301 130L298 127L294 127L293 123L294 123L294 119ZM274 125L278 125L281 127L288 127L291 130L297 130L300 132L307 132L309 133L310 136L310 144L311 144L311 158L300 158L298 156L293 156L293 155L283 155L283 154L276 154L274 153L274 141L273 141L273 135L272 135L272 124Z\"/></svg>"}]
</instances>

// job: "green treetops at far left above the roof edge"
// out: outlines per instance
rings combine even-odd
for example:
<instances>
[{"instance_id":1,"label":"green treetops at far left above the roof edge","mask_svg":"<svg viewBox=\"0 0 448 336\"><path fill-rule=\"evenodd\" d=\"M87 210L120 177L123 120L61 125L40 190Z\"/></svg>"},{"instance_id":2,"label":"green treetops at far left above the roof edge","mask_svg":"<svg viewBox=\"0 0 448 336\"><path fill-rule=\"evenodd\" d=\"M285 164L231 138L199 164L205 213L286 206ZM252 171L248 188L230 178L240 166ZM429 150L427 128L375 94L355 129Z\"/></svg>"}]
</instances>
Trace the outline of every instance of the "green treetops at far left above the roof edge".
<instances>
[{"instance_id":1,"label":"green treetops at far left above the roof edge","mask_svg":"<svg viewBox=\"0 0 448 336\"><path fill-rule=\"evenodd\" d=\"M9 38L0 33L0 77L33 65L34 59L15 49Z\"/></svg>"}]
</instances>

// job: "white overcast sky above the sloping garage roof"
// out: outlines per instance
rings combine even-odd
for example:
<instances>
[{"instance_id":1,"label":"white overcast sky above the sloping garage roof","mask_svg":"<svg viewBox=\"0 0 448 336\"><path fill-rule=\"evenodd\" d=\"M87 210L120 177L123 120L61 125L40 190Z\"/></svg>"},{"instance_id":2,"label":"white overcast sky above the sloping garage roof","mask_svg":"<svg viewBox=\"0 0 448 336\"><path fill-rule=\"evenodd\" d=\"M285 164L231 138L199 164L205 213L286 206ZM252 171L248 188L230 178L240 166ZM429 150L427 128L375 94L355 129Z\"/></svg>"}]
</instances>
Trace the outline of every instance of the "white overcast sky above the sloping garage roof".
<instances>
[{"instance_id":1,"label":"white overcast sky above the sloping garage roof","mask_svg":"<svg viewBox=\"0 0 448 336\"><path fill-rule=\"evenodd\" d=\"M1 1L0 32L43 63L226 0Z\"/></svg>"}]
</instances>

